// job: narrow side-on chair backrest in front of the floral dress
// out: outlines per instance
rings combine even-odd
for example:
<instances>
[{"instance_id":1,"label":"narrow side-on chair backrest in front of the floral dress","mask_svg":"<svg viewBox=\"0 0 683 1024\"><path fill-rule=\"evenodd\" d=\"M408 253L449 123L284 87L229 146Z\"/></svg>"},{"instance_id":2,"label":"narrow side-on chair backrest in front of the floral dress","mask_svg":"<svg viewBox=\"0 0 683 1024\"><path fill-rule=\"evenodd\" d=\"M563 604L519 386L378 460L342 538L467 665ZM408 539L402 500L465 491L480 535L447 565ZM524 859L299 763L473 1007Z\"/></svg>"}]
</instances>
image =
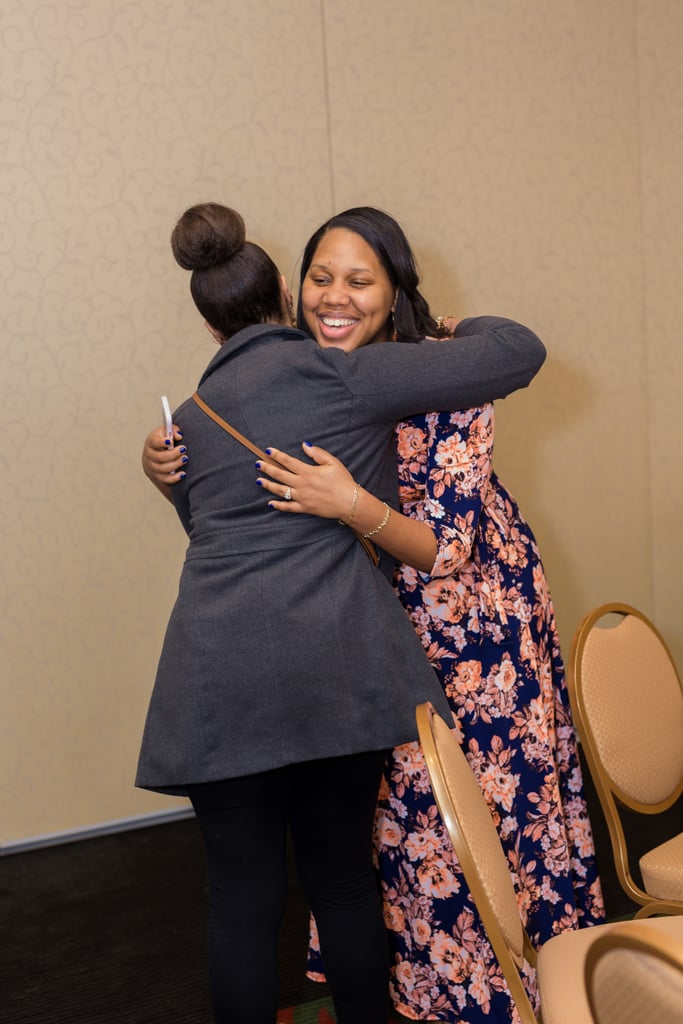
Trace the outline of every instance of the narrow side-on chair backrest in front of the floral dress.
<instances>
[{"instance_id":1,"label":"narrow side-on chair backrest in front of the floral dress","mask_svg":"<svg viewBox=\"0 0 683 1024\"><path fill-rule=\"evenodd\" d=\"M536 953L524 931L510 869L486 801L454 732L432 705L417 709L434 798L522 1024L537 1017L521 980Z\"/></svg>"}]
</instances>

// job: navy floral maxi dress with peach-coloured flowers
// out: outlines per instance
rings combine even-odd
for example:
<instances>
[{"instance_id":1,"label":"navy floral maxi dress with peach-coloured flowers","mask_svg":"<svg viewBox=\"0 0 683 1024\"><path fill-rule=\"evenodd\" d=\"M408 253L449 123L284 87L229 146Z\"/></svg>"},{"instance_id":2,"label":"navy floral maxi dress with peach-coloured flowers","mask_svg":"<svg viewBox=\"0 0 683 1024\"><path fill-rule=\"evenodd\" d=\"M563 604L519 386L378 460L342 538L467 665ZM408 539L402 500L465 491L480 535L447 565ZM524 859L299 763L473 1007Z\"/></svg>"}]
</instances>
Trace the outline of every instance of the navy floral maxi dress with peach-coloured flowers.
<instances>
[{"instance_id":1,"label":"navy floral maxi dress with peach-coloured flowers","mask_svg":"<svg viewBox=\"0 0 683 1024\"><path fill-rule=\"evenodd\" d=\"M397 428L401 507L431 523L429 577L396 587L498 825L529 937L604 920L553 605L536 540L492 468L493 406ZM417 743L388 762L375 848L391 996L414 1020L514 1021ZM530 972L530 969L529 969ZM536 1001L529 973L529 995Z\"/></svg>"}]
</instances>

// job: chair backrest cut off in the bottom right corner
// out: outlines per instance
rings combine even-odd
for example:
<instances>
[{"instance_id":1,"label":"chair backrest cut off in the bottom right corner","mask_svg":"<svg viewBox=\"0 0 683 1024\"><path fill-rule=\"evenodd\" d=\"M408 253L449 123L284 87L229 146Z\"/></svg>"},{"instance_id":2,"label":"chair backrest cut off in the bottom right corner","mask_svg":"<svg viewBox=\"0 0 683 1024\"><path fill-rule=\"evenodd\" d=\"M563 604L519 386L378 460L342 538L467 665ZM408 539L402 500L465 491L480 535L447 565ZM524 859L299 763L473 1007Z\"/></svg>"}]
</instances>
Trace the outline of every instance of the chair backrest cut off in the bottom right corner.
<instances>
[{"instance_id":1,"label":"chair backrest cut off in the bottom right corner","mask_svg":"<svg viewBox=\"0 0 683 1024\"><path fill-rule=\"evenodd\" d=\"M683 1021L680 938L640 922L616 925L592 943L585 974L596 1024Z\"/></svg>"}]
</instances>

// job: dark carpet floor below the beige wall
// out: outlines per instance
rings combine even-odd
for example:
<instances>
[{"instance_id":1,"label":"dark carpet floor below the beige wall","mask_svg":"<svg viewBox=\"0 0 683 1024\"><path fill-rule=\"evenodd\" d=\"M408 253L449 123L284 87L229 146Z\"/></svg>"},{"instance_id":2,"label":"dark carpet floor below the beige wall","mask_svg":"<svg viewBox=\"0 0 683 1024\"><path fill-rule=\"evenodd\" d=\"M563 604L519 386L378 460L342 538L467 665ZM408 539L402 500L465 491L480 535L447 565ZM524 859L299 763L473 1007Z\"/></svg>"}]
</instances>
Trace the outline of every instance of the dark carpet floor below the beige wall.
<instances>
[{"instance_id":1,"label":"dark carpet floor below the beige wall","mask_svg":"<svg viewBox=\"0 0 683 1024\"><path fill-rule=\"evenodd\" d=\"M616 882L587 782L608 916L626 916L635 907ZM681 829L682 806L640 826L643 849ZM290 876L282 1020L332 1022L326 986L304 977L308 910ZM0 857L0 1021L210 1024L205 903L193 818Z\"/></svg>"}]
</instances>

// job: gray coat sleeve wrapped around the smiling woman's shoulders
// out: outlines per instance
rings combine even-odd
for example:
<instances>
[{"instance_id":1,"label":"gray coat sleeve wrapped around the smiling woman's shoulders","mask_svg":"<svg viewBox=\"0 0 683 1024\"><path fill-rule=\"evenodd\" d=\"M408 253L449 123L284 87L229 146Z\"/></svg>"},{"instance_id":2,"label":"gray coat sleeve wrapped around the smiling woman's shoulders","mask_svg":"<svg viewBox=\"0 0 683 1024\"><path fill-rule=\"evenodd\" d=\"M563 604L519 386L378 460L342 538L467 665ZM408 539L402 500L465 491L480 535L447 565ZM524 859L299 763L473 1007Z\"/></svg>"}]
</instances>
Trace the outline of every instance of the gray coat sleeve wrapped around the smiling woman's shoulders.
<instances>
[{"instance_id":1,"label":"gray coat sleeve wrapped around the smiling woman's shoulders","mask_svg":"<svg viewBox=\"0 0 683 1024\"><path fill-rule=\"evenodd\" d=\"M461 321L447 341L329 348L353 396L388 422L484 406L526 387L546 358L540 338L500 316Z\"/></svg>"}]
</instances>

